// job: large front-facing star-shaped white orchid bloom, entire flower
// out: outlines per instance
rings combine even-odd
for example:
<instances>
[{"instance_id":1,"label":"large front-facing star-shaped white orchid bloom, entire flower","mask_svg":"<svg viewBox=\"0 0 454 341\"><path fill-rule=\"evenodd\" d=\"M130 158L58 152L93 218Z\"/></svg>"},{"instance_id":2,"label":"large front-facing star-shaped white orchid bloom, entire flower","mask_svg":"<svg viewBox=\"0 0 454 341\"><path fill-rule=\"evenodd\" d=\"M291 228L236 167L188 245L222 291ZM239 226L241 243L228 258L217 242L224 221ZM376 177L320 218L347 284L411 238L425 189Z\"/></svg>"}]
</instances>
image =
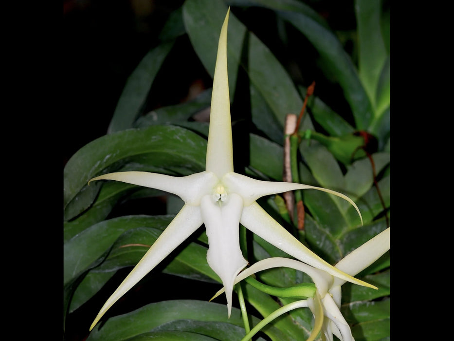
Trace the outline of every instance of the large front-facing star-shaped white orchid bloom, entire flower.
<instances>
[{"instance_id":1,"label":"large front-facing star-shaped white orchid bloom, entire flower","mask_svg":"<svg viewBox=\"0 0 454 341\"><path fill-rule=\"evenodd\" d=\"M139 282L202 224L205 224L209 240L207 262L218 274L226 288L229 316L232 307L234 280L236 275L248 264L239 246L240 223L272 245L302 262L320 268L345 281L374 287L329 265L307 247L303 246L255 202L264 195L294 189L318 189L344 198L360 213L358 207L351 199L344 194L329 189L287 182L260 181L234 172L227 76L227 26L229 12L230 8L222 25L218 43L218 56L211 100L206 170L183 177L143 171L125 171L104 174L90 180L116 180L161 189L178 195L184 201L184 206L180 212L109 297L92 323L90 330L113 303L134 284Z\"/></svg>"}]
</instances>

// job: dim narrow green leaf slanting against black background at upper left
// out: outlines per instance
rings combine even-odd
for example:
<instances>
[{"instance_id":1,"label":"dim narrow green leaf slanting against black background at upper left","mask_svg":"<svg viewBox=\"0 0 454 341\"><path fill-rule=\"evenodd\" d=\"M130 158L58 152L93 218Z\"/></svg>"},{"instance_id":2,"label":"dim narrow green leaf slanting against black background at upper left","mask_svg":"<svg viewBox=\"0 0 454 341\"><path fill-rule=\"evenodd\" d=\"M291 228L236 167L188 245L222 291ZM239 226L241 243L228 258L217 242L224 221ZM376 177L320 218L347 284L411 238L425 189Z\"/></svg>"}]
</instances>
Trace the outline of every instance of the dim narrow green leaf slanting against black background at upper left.
<instances>
[{"instance_id":1,"label":"dim narrow green leaf slanting against black background at upper left","mask_svg":"<svg viewBox=\"0 0 454 341\"><path fill-rule=\"evenodd\" d=\"M110 121L108 133L132 128L134 121L141 114L153 80L172 47L173 41L170 41L151 49L127 78Z\"/></svg>"}]
</instances>

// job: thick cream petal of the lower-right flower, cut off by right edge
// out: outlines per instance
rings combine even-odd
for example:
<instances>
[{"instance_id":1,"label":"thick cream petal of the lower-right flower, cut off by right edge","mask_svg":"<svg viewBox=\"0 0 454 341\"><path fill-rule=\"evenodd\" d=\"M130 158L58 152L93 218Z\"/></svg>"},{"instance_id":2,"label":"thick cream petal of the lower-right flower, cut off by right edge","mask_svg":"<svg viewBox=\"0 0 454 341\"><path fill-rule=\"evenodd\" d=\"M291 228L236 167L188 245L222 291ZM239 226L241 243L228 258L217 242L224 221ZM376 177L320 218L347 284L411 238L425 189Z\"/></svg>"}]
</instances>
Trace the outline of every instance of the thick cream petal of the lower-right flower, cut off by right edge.
<instances>
[{"instance_id":1,"label":"thick cream petal of the lower-right flower, cut off by right edge","mask_svg":"<svg viewBox=\"0 0 454 341\"><path fill-rule=\"evenodd\" d=\"M335 265L336 268L351 276L355 276L367 266L374 263L389 250L390 228L391 227L386 228L374 238L365 242L362 246L351 251ZM341 279L335 280L335 285L342 285L344 283L345 281L342 281Z\"/></svg>"}]
</instances>

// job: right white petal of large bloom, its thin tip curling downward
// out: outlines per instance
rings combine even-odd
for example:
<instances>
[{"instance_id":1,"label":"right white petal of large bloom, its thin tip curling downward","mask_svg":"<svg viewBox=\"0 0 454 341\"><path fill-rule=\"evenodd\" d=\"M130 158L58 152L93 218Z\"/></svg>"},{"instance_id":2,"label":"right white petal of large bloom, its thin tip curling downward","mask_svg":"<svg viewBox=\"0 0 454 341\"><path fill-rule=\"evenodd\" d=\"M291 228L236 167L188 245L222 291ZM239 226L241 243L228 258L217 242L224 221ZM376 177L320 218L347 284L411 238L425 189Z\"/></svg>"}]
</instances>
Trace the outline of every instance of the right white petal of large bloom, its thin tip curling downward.
<instances>
[{"instance_id":1,"label":"right white petal of large bloom, its thin tip curling downward","mask_svg":"<svg viewBox=\"0 0 454 341\"><path fill-rule=\"evenodd\" d=\"M261 198L265 195L283 193L295 189L317 189L323 192L327 192L333 195L336 195L342 199L348 201L358 212L361 223L363 223L363 217L361 216L360 209L356 204L347 197L345 194L336 192L331 189L326 189L323 187L315 187L305 184L296 184L293 182L271 182L271 181L262 181L255 180L248 176L241 175L238 173L228 173L223 177L223 183L228 188L230 192L235 192L241 195L244 200L244 205L249 206L258 198Z\"/></svg>"}]
</instances>

